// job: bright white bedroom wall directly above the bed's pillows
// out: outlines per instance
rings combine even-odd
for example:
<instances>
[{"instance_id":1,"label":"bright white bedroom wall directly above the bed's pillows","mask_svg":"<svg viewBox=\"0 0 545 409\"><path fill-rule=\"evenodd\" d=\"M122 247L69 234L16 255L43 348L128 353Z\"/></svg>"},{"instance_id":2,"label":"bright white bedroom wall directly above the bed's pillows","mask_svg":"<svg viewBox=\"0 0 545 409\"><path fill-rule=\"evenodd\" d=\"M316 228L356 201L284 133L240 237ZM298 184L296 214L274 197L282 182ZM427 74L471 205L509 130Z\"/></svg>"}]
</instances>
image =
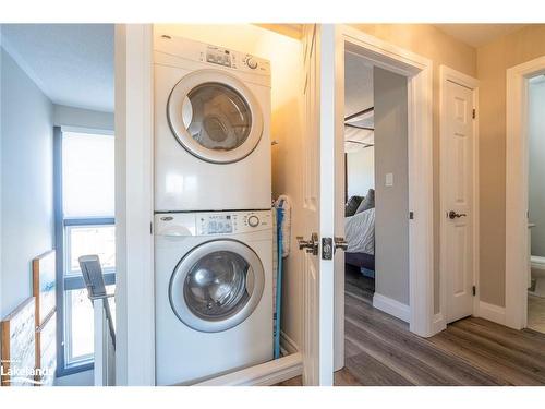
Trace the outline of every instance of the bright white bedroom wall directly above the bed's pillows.
<instances>
[{"instance_id":1,"label":"bright white bedroom wall directly above the bed's pillows","mask_svg":"<svg viewBox=\"0 0 545 409\"><path fill-rule=\"evenodd\" d=\"M373 146L347 154L348 197L365 196L375 189L375 148Z\"/></svg>"}]
</instances>

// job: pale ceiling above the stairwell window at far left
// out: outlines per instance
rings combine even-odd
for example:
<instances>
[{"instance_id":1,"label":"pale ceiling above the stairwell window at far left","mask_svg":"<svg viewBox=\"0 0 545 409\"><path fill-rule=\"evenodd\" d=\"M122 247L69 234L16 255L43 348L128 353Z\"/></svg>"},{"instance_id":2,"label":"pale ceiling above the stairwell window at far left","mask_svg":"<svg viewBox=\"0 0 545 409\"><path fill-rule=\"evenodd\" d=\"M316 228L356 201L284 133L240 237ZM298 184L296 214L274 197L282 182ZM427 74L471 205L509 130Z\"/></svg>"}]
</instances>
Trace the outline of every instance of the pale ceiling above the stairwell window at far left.
<instances>
[{"instance_id":1,"label":"pale ceiling above the stairwell window at far left","mask_svg":"<svg viewBox=\"0 0 545 409\"><path fill-rule=\"evenodd\" d=\"M2 24L2 47L53 104L113 112L113 24Z\"/></svg>"}]
</instances>

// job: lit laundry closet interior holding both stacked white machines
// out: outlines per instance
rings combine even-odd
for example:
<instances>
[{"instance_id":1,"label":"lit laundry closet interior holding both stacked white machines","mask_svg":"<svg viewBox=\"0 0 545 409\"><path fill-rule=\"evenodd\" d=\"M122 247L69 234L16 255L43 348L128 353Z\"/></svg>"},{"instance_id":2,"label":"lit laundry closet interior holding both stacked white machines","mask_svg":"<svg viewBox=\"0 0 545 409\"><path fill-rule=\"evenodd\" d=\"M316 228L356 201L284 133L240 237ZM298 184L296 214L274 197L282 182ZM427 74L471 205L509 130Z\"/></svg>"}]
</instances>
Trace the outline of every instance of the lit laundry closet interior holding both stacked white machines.
<instances>
[{"instance_id":1,"label":"lit laundry closet interior holding both stacked white machines","mask_svg":"<svg viewBox=\"0 0 545 409\"><path fill-rule=\"evenodd\" d=\"M157 385L232 380L301 352L303 277L290 248L304 159L296 37L250 24L154 26Z\"/></svg>"}]
</instances>

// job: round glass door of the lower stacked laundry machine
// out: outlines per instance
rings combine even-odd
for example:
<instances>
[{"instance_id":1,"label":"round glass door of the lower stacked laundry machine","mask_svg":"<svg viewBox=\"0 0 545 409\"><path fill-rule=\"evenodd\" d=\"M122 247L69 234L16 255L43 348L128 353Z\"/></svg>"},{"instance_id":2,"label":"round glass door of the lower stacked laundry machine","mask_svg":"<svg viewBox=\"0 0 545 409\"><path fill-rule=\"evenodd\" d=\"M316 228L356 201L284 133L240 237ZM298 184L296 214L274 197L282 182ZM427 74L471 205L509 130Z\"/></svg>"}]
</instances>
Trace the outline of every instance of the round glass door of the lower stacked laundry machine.
<instances>
[{"instance_id":1,"label":"round glass door of the lower stacked laundry machine","mask_svg":"<svg viewBox=\"0 0 545 409\"><path fill-rule=\"evenodd\" d=\"M265 287L263 264L235 240L205 242L178 263L170 279L174 314L204 333L232 328L255 310Z\"/></svg>"}]
</instances>

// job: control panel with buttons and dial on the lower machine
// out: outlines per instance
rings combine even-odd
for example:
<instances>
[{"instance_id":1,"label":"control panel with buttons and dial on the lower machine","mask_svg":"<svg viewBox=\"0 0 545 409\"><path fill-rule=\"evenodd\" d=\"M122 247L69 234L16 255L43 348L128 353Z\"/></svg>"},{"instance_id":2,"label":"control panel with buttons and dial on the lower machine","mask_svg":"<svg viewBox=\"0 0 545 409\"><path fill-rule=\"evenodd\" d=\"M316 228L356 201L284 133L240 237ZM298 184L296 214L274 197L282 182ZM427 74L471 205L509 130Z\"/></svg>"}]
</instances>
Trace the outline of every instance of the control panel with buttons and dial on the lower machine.
<instances>
[{"instance_id":1,"label":"control panel with buttons and dial on the lower machine","mask_svg":"<svg viewBox=\"0 0 545 409\"><path fill-rule=\"evenodd\" d=\"M220 236L270 229L270 210L218 212L196 215L197 236Z\"/></svg>"}]
</instances>

